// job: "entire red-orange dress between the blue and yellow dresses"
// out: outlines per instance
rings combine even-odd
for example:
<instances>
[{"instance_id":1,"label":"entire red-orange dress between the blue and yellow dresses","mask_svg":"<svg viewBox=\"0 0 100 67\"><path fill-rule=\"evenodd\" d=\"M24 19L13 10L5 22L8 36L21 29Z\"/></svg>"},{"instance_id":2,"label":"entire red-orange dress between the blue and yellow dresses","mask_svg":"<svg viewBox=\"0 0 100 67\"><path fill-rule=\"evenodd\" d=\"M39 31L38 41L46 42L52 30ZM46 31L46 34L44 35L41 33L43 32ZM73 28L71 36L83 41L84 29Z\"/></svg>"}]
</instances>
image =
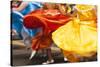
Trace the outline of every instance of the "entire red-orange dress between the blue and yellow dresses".
<instances>
[{"instance_id":1,"label":"entire red-orange dress between the blue and yellow dresses","mask_svg":"<svg viewBox=\"0 0 100 67\"><path fill-rule=\"evenodd\" d=\"M32 39L33 50L46 48L52 43L51 33L70 20L70 16L61 14L58 10L35 10L24 17L26 28L42 28L43 33Z\"/></svg>"}]
</instances>

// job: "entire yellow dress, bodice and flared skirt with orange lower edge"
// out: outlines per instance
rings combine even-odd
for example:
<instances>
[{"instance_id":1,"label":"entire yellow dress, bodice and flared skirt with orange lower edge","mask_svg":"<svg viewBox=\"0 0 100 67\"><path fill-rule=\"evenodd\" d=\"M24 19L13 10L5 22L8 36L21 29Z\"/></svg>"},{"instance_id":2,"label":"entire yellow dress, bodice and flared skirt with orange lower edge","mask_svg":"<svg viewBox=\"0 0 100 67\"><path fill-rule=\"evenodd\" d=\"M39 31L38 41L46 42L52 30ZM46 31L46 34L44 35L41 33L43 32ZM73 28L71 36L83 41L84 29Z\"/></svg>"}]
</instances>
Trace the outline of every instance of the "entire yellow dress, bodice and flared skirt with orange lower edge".
<instances>
[{"instance_id":1,"label":"entire yellow dress, bodice and flared skirt with orange lower edge","mask_svg":"<svg viewBox=\"0 0 100 67\"><path fill-rule=\"evenodd\" d=\"M76 5L76 7L78 18L73 18L52 33L54 43L63 50L64 56L72 62L78 61L75 55L90 57L97 52L96 15L95 11L92 10L94 6ZM82 13L81 7L84 7L84 13Z\"/></svg>"}]
</instances>

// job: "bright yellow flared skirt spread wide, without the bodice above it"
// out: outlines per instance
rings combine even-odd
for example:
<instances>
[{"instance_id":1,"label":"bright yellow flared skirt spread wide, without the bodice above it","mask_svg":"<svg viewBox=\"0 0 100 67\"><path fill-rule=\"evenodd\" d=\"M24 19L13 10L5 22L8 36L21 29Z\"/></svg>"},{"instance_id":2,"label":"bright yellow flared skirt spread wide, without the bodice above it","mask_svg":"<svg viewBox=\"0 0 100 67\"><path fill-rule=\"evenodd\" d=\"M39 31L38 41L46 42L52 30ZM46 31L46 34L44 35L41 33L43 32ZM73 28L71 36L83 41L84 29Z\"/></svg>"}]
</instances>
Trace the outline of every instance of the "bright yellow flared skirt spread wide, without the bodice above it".
<instances>
[{"instance_id":1,"label":"bright yellow flared skirt spread wide, without the bodice above it","mask_svg":"<svg viewBox=\"0 0 100 67\"><path fill-rule=\"evenodd\" d=\"M89 57L97 52L96 22L74 19L54 31L52 39L65 53Z\"/></svg>"}]
</instances>

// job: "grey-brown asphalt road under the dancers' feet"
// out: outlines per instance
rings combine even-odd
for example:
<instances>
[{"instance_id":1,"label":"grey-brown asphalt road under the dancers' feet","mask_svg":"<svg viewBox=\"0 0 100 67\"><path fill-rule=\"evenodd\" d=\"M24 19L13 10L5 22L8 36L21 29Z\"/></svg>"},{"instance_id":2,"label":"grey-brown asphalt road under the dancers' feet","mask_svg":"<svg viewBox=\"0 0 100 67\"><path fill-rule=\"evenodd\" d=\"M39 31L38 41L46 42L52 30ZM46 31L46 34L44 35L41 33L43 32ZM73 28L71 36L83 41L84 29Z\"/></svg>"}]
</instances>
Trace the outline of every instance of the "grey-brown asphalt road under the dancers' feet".
<instances>
[{"instance_id":1,"label":"grey-brown asphalt road under the dancers' feet","mask_svg":"<svg viewBox=\"0 0 100 67\"><path fill-rule=\"evenodd\" d=\"M57 48L55 45L51 47L52 49L52 56L55 60L53 64L57 63L69 63L63 60L63 54L61 53L60 49ZM41 65L43 62L47 60L47 56L43 55L41 51L37 52L35 57L32 60L29 60L31 54L31 50L27 50L22 42L22 40L14 40L12 42L12 66L27 66L27 65ZM89 60L85 61L96 61L96 56Z\"/></svg>"}]
</instances>

